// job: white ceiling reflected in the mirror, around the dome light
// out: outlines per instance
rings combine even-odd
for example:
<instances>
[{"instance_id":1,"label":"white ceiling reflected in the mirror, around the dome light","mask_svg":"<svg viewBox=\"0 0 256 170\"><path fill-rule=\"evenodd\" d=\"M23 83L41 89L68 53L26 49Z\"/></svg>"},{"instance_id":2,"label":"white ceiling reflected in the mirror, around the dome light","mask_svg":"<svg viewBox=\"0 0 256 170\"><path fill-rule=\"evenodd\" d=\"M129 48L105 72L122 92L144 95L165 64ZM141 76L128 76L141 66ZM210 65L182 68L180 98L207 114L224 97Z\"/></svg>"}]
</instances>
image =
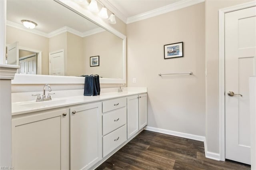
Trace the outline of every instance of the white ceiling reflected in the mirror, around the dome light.
<instances>
[{"instance_id":1,"label":"white ceiling reflected in the mirror, around the dome light","mask_svg":"<svg viewBox=\"0 0 256 170\"><path fill-rule=\"evenodd\" d=\"M7 0L6 20L20 25L21 20L36 22L35 30L46 34L65 26L78 32L99 27L53 0Z\"/></svg>"}]
</instances>

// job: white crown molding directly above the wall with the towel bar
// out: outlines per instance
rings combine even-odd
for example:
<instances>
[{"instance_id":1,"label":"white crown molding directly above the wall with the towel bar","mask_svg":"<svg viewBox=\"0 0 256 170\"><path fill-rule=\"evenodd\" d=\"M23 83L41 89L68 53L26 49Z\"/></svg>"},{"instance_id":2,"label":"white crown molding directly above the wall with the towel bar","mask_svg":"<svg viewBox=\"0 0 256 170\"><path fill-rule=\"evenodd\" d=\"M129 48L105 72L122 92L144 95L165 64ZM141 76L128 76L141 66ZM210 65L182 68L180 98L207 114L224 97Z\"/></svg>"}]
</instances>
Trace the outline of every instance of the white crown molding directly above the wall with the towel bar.
<instances>
[{"instance_id":1,"label":"white crown molding directly above the wall with the towel bar","mask_svg":"<svg viewBox=\"0 0 256 170\"><path fill-rule=\"evenodd\" d=\"M158 16L158 15L161 15L161 14L165 14L167 12L171 12L171 11L174 11L174 10L179 10L181 8L186 8L188 6L199 4L199 3L202 3L202 2L204 2L204 0L182 0L182 1L179 1L179 2L175 2L173 4L163 6L161 8L157 8L157 9L154 9L154 10L151 10L151 11L148 11L148 12L144 12L142 14L138 14L136 16L128 17L126 24L130 24L132 22L137 22L137 21L140 21L140 20L144 20L144 19L147 19L147 18Z\"/></svg>"}]
</instances>

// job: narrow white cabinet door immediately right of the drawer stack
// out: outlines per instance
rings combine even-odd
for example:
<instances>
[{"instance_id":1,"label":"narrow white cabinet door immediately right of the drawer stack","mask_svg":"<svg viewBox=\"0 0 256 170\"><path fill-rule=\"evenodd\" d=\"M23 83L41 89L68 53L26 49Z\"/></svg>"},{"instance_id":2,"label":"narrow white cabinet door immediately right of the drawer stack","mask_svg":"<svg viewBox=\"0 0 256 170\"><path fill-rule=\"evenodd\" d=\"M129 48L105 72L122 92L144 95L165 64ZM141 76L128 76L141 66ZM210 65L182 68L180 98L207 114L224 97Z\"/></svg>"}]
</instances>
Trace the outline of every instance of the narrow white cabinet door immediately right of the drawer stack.
<instances>
[{"instance_id":1,"label":"narrow white cabinet door immediately right of the drawer stack","mask_svg":"<svg viewBox=\"0 0 256 170\"><path fill-rule=\"evenodd\" d=\"M127 138L139 131L138 95L127 97Z\"/></svg>"}]
</instances>

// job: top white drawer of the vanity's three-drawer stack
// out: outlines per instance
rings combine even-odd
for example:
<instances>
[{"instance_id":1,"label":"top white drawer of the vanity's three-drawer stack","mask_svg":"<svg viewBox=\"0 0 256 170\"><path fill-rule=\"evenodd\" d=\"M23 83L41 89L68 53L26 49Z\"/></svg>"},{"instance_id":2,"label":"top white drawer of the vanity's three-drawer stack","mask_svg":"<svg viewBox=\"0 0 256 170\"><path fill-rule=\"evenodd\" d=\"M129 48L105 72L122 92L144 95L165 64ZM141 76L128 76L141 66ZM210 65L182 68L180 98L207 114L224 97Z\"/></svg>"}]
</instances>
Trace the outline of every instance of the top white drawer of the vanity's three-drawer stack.
<instances>
[{"instance_id":1,"label":"top white drawer of the vanity's three-drawer stack","mask_svg":"<svg viewBox=\"0 0 256 170\"><path fill-rule=\"evenodd\" d=\"M126 97L102 102L102 113L126 106Z\"/></svg>"}]
</instances>

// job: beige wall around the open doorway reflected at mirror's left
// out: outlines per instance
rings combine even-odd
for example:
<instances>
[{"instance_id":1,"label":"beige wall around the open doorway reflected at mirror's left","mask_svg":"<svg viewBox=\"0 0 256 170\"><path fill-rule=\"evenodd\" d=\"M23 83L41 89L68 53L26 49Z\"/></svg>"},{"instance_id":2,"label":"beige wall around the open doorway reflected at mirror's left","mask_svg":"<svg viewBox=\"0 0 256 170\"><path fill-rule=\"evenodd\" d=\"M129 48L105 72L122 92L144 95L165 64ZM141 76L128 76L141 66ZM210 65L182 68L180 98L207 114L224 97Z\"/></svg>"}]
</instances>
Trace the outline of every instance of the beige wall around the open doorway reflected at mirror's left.
<instances>
[{"instance_id":1,"label":"beige wall around the open doorway reflected at mirror's left","mask_svg":"<svg viewBox=\"0 0 256 170\"><path fill-rule=\"evenodd\" d=\"M19 42L20 47L42 51L42 74L49 74L49 40L46 37L6 26L6 44Z\"/></svg>"}]
</instances>

